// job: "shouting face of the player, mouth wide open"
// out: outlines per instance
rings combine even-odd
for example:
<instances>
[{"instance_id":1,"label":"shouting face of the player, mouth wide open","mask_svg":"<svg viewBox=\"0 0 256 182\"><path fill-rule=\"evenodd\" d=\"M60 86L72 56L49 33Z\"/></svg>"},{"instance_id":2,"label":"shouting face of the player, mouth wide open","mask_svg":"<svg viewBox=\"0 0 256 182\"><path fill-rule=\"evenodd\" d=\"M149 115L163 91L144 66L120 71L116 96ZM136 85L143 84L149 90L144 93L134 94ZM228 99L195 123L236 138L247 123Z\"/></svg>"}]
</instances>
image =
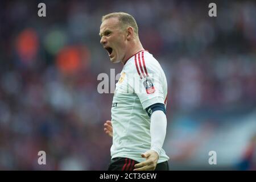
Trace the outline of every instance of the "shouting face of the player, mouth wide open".
<instances>
[{"instance_id":1,"label":"shouting face of the player, mouth wide open","mask_svg":"<svg viewBox=\"0 0 256 182\"><path fill-rule=\"evenodd\" d=\"M112 63L119 63L125 57L125 31L121 30L118 18L109 18L102 22L100 27L100 43L108 52Z\"/></svg>"}]
</instances>

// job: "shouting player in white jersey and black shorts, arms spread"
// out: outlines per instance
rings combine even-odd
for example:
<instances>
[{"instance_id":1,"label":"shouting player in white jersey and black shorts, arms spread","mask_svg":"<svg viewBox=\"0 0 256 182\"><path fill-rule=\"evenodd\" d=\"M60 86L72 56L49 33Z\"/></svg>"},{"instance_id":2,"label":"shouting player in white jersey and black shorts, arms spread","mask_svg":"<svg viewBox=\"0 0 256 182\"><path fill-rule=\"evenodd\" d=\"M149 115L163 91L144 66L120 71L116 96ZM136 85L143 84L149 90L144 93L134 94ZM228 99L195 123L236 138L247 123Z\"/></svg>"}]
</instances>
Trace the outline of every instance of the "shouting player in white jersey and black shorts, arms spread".
<instances>
[{"instance_id":1,"label":"shouting player in white jersey and black shorts, arms spread","mask_svg":"<svg viewBox=\"0 0 256 182\"><path fill-rule=\"evenodd\" d=\"M169 158L162 148L167 127L163 69L142 47L133 16L102 16L100 36L110 61L123 64L113 97L112 121L106 121L104 129L113 137L109 170L168 170Z\"/></svg>"}]
</instances>

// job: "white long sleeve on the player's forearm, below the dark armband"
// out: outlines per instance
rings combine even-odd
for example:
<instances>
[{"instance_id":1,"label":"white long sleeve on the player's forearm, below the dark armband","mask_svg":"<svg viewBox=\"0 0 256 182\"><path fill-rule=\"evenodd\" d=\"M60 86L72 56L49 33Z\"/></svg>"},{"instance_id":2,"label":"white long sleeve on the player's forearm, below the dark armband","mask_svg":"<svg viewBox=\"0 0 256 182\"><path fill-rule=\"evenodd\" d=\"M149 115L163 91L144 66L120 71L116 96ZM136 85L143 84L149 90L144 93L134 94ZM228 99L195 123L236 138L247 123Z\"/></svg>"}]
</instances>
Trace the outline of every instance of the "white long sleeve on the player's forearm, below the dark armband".
<instances>
[{"instance_id":1,"label":"white long sleeve on the player's forearm, below the dark armband","mask_svg":"<svg viewBox=\"0 0 256 182\"><path fill-rule=\"evenodd\" d=\"M166 137L167 118L162 110L156 110L150 118L151 150L160 156Z\"/></svg>"}]
</instances>

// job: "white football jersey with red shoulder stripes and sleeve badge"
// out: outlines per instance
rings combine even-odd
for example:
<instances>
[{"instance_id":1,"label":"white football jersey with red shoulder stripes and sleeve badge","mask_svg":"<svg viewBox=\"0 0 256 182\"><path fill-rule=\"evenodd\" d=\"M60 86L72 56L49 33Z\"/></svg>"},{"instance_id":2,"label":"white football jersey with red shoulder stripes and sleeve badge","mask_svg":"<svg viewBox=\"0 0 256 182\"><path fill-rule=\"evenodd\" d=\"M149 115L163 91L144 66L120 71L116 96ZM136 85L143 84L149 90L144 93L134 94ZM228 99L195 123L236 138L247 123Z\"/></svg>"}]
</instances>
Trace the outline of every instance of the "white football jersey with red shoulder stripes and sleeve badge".
<instances>
[{"instance_id":1,"label":"white football jersey with red shoulder stripes and sleeve badge","mask_svg":"<svg viewBox=\"0 0 256 182\"><path fill-rule=\"evenodd\" d=\"M147 51L130 57L115 84L112 158L145 160L141 154L151 148L150 117L145 109L156 103L166 105L166 101L167 80L158 61ZM162 148L158 163L168 159Z\"/></svg>"}]
</instances>

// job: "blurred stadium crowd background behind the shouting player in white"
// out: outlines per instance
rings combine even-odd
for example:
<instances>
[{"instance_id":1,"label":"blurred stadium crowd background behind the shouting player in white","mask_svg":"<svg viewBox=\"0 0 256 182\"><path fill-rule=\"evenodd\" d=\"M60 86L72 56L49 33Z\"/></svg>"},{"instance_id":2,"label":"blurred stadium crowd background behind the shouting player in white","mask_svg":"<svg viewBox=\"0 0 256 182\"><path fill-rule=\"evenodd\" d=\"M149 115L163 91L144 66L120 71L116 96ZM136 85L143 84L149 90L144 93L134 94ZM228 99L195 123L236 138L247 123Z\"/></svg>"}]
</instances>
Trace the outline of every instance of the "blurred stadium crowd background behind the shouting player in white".
<instances>
[{"instance_id":1,"label":"blurred stadium crowd background behind the shouting player in white","mask_svg":"<svg viewBox=\"0 0 256 182\"><path fill-rule=\"evenodd\" d=\"M113 94L97 92L97 76L122 64L110 63L98 33L102 15L124 11L167 76L170 169L255 170L256 3L216 1L217 17L209 3L1 1L0 169L108 168Z\"/></svg>"}]
</instances>

